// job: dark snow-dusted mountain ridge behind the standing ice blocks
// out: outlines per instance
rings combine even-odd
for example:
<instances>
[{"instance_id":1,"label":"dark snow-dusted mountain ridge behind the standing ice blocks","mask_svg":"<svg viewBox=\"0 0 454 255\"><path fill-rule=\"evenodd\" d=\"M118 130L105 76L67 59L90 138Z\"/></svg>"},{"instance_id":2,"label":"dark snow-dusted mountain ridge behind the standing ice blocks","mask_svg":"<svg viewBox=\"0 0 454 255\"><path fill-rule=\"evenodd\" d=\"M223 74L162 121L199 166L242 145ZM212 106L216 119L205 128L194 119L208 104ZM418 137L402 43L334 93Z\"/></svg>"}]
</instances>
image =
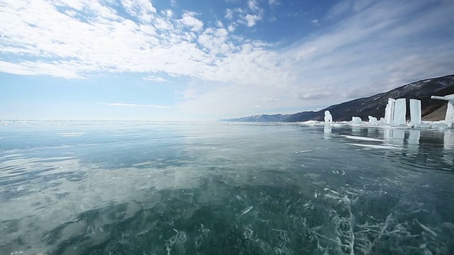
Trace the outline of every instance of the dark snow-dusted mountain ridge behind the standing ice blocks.
<instances>
[{"instance_id":1,"label":"dark snow-dusted mountain ridge behind the standing ice blocks","mask_svg":"<svg viewBox=\"0 0 454 255\"><path fill-rule=\"evenodd\" d=\"M352 101L328 106L320 111L304 111L294 114L260 114L243 118L231 118L221 121L240 121L240 122L296 122L306 120L323 121L325 111L330 111L334 121L351 120L352 116L367 120L369 115L377 118L384 117L384 108L388 98L407 99L407 118L409 118L410 98L421 100L421 110L423 120L442 120L444 118L443 109L446 108L444 101L432 100L431 96L445 96L454 94L454 74L444 77L424 79L415 81L397 89L392 89L384 93L358 98ZM445 110L444 110L445 111Z\"/></svg>"}]
</instances>

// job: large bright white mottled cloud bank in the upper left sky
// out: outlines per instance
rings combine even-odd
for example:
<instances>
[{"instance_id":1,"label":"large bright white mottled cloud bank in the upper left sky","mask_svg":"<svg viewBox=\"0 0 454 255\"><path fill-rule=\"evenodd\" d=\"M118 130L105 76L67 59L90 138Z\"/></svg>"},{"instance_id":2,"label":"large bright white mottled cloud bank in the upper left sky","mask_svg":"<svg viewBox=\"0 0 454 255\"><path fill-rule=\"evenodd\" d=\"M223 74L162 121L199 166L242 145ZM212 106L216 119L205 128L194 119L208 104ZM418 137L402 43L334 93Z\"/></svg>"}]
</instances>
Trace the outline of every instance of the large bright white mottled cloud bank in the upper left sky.
<instances>
[{"instance_id":1,"label":"large bright white mottled cloud bank in the upper left sky","mask_svg":"<svg viewBox=\"0 0 454 255\"><path fill-rule=\"evenodd\" d=\"M77 16L99 11L101 3L86 2L84 12ZM243 73L262 72L258 70L265 67L260 62L236 63L247 60L248 56L243 55L267 57L266 44L231 38L228 31L233 31L234 25L228 26L228 30L204 28L204 23L195 18L196 13L187 12L176 19L170 11L157 12L141 1L124 1L131 13L138 16L147 13L153 22L136 23L111 12L109 18L88 17L90 22L86 23L57 11L52 4L52 1L36 0L33 5L13 1L0 6L1 16L9 21L0 27L0 34L4 35L0 53L21 56L10 57L10 62L4 60L0 66L2 72L68 79L89 77L97 72L166 73L248 83L248 75ZM69 7L63 4L60 3L60 8ZM216 33L204 32L210 30ZM208 38L202 40L205 35ZM210 39L213 41L209 42ZM251 50L244 52L241 50L244 47ZM30 57L35 60L27 60ZM281 71L272 67L264 72Z\"/></svg>"}]
</instances>

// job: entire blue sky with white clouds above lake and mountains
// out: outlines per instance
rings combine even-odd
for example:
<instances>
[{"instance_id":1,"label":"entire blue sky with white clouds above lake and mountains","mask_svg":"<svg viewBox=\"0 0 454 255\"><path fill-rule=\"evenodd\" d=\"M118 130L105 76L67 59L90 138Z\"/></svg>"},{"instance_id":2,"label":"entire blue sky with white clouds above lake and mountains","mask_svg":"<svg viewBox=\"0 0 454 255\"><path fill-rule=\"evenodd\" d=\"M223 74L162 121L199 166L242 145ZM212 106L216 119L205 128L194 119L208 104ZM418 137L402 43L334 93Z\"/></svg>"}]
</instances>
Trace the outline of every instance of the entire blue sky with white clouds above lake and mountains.
<instances>
[{"instance_id":1,"label":"entire blue sky with white clouds above lake and mountains","mask_svg":"<svg viewBox=\"0 0 454 255\"><path fill-rule=\"evenodd\" d=\"M0 0L0 119L296 113L454 73L454 1Z\"/></svg>"}]
</instances>

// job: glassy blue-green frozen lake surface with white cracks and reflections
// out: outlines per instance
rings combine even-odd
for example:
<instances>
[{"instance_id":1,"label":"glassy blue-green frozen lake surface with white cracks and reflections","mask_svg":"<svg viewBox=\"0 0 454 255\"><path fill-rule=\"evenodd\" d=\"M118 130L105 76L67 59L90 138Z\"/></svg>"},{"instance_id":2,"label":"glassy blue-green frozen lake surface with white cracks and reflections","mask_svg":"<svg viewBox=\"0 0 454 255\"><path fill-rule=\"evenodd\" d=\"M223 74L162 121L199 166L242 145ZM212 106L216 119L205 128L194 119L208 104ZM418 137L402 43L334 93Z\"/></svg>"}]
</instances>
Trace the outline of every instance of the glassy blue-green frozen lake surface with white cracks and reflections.
<instances>
[{"instance_id":1,"label":"glassy blue-green frozen lake surface with white cracks and reflections","mask_svg":"<svg viewBox=\"0 0 454 255\"><path fill-rule=\"evenodd\" d=\"M4 120L0 254L454 254L454 130Z\"/></svg>"}]
</instances>

